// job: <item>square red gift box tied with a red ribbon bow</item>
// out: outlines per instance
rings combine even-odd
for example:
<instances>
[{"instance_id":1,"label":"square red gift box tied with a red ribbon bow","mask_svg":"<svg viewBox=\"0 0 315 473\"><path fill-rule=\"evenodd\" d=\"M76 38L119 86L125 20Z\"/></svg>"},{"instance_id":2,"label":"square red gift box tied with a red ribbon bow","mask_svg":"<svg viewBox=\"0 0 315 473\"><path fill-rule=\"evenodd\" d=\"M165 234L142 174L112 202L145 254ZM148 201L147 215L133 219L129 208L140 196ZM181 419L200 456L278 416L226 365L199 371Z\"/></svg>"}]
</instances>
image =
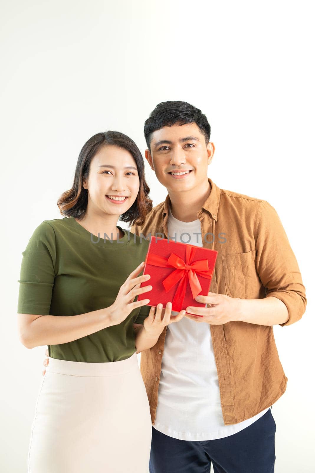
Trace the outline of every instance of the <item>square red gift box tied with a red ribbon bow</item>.
<instances>
[{"instance_id":1,"label":"square red gift box tied with a red ribbon bow","mask_svg":"<svg viewBox=\"0 0 315 473\"><path fill-rule=\"evenodd\" d=\"M172 302L172 310L205 307L194 298L207 296L218 252L167 238L151 236L143 274L150 274L141 287L152 286L138 300L150 299L148 306Z\"/></svg>"}]
</instances>

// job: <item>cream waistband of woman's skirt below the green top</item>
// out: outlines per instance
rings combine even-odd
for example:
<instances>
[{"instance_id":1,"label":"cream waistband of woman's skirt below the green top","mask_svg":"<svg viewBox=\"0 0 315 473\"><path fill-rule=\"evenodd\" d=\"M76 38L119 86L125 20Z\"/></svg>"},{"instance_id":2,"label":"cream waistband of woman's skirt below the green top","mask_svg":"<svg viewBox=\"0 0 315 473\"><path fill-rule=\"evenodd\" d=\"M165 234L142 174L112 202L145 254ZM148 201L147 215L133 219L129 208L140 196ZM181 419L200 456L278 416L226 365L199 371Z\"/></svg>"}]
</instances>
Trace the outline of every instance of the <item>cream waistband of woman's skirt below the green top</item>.
<instances>
[{"instance_id":1,"label":"cream waistband of woman's skirt below the green top","mask_svg":"<svg viewBox=\"0 0 315 473\"><path fill-rule=\"evenodd\" d=\"M86 363L50 358L46 373L59 373L70 376L113 376L127 373L138 365L136 351L130 358L107 363Z\"/></svg>"}]
</instances>

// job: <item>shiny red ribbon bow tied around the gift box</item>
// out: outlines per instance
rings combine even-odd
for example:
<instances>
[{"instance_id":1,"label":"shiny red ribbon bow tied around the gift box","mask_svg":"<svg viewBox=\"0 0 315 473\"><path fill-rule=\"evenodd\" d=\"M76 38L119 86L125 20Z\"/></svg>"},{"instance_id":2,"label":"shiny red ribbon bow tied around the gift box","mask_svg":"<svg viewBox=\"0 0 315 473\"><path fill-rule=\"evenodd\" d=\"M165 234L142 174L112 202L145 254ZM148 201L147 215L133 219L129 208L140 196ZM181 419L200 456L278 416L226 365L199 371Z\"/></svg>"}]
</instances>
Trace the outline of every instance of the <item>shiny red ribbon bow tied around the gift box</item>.
<instances>
[{"instance_id":1,"label":"shiny red ribbon bow tied around the gift box","mask_svg":"<svg viewBox=\"0 0 315 473\"><path fill-rule=\"evenodd\" d=\"M158 256L157 254L148 254L147 263L154 266L160 266L163 268L174 267L176 268L165 280L163 280L163 286L168 292L173 286L180 281L178 288L176 289L172 309L179 311L182 310L183 301L185 298L185 288L187 286L187 278L191 287L191 293L193 298L198 296L201 292L201 286L197 274L203 278L211 279L212 270L209 270L208 260L193 261L196 249L193 246L186 246L186 263L177 256L177 254L171 253L169 258Z\"/></svg>"}]
</instances>

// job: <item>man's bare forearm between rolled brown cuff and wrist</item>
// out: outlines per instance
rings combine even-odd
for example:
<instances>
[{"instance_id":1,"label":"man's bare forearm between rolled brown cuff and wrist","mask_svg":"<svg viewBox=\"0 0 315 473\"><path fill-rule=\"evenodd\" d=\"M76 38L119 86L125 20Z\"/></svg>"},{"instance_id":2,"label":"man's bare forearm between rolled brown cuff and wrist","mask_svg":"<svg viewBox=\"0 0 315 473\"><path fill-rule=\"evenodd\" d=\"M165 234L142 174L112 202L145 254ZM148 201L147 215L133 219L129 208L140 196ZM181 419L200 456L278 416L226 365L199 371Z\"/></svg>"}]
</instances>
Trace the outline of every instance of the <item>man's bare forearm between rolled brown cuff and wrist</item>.
<instances>
[{"instance_id":1,"label":"man's bare forearm between rolled brown cuff and wrist","mask_svg":"<svg viewBox=\"0 0 315 473\"><path fill-rule=\"evenodd\" d=\"M278 325L289 319L287 306L275 297L239 299L237 320L258 325Z\"/></svg>"}]
</instances>

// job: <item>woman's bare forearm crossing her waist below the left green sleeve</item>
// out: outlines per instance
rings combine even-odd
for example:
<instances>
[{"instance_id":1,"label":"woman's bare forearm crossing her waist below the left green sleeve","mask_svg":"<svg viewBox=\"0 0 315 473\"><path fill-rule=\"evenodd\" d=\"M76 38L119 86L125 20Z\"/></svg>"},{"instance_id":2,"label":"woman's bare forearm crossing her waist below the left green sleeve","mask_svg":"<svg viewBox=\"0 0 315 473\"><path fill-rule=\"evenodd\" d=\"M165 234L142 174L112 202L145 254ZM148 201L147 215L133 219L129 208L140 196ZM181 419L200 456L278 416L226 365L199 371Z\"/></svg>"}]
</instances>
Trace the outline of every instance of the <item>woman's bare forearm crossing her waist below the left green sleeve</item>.
<instances>
[{"instance_id":1,"label":"woman's bare forearm crossing her waist below the left green sleeve","mask_svg":"<svg viewBox=\"0 0 315 473\"><path fill-rule=\"evenodd\" d=\"M24 317L26 314L22 314ZM21 331L26 348L73 342L113 325L110 309L104 308L80 315L39 315Z\"/></svg>"}]
</instances>

